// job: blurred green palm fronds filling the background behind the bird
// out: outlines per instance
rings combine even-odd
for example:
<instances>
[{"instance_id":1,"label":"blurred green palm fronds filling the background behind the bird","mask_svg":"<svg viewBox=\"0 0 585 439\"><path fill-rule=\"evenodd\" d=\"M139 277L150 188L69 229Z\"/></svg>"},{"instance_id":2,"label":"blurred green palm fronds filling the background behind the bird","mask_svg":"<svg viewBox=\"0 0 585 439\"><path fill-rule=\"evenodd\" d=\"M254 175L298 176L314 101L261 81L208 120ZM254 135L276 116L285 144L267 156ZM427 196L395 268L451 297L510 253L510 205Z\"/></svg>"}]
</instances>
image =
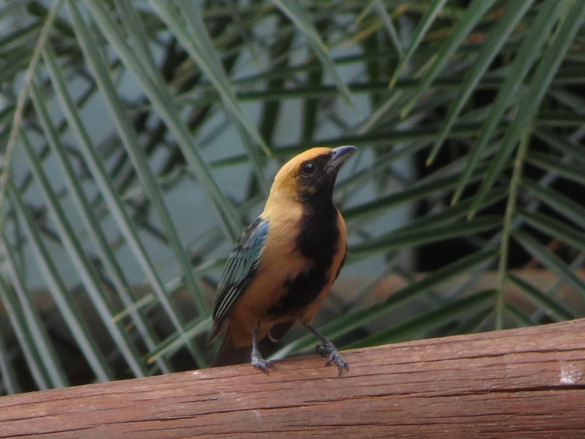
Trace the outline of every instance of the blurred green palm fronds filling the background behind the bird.
<instances>
[{"instance_id":1,"label":"blurred green palm fronds filling the background behind the bird","mask_svg":"<svg viewBox=\"0 0 585 439\"><path fill-rule=\"evenodd\" d=\"M225 258L316 145L358 148L317 322L338 347L585 315L584 18L579 0L2 2L0 393L207 366Z\"/></svg>"}]
</instances>

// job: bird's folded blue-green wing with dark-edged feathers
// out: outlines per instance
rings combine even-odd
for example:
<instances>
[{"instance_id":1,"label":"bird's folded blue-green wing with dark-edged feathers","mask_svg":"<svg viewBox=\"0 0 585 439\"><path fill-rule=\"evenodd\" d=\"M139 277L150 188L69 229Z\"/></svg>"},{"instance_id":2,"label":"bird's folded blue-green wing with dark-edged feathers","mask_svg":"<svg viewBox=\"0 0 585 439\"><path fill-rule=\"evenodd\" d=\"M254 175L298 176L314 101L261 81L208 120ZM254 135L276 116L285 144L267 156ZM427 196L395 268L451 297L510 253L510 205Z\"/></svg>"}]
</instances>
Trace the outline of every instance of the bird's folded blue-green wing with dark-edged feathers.
<instances>
[{"instance_id":1,"label":"bird's folded blue-green wing with dark-edged feathers","mask_svg":"<svg viewBox=\"0 0 585 439\"><path fill-rule=\"evenodd\" d=\"M222 321L242 291L252 282L267 234L268 221L256 219L243 232L230 253L215 297L213 318L216 324Z\"/></svg>"}]
</instances>

